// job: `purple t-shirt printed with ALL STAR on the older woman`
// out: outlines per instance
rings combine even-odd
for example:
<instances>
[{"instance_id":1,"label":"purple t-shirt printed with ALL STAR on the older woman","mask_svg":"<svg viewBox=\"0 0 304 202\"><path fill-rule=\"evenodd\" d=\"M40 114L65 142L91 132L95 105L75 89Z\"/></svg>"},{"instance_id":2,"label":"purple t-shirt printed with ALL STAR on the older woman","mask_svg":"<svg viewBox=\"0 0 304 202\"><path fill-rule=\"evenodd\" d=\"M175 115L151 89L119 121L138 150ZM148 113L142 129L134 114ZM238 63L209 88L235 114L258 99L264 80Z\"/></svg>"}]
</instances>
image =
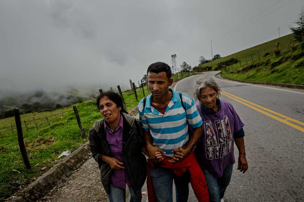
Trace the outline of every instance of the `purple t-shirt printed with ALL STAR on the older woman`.
<instances>
[{"instance_id":1,"label":"purple t-shirt printed with ALL STAR on the older woman","mask_svg":"<svg viewBox=\"0 0 304 202\"><path fill-rule=\"evenodd\" d=\"M221 177L223 170L235 163L233 133L244 127L244 123L226 100L220 100L221 109L215 114L204 113L201 106L196 104L204 126L199 163L214 177Z\"/></svg>"}]
</instances>

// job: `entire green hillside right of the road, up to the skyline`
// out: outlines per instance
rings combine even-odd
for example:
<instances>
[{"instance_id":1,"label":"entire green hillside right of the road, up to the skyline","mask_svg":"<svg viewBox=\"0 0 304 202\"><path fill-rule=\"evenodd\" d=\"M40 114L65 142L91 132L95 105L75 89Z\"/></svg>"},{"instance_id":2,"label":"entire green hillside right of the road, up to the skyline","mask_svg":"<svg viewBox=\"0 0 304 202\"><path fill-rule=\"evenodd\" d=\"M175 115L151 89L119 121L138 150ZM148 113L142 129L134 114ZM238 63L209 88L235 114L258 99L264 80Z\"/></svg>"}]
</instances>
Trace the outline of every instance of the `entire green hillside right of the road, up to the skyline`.
<instances>
[{"instance_id":1,"label":"entire green hillside right of the road, up to the skyline","mask_svg":"<svg viewBox=\"0 0 304 202\"><path fill-rule=\"evenodd\" d=\"M297 42L290 34L193 69L222 70L222 77L242 81L304 85L304 42Z\"/></svg>"}]
</instances>

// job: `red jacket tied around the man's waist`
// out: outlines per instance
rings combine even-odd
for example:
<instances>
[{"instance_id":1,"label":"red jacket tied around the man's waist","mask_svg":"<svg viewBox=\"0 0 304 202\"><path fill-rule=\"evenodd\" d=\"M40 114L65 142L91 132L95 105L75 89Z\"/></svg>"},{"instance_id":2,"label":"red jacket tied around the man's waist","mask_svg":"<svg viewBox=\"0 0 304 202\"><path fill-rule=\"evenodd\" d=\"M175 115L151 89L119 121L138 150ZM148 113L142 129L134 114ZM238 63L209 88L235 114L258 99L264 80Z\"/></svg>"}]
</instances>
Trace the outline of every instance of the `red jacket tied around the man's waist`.
<instances>
[{"instance_id":1,"label":"red jacket tied around the man's waist","mask_svg":"<svg viewBox=\"0 0 304 202\"><path fill-rule=\"evenodd\" d=\"M171 168L177 176L185 173L188 169L189 173L191 174L190 183L194 194L199 202L208 202L209 201L209 194L208 188L206 185L206 180L204 173L199 166L198 162L196 161L194 152L192 151L182 162L177 162L175 164L170 163L170 157L162 156L164 158L159 166L164 168ZM147 189L148 189L148 200L149 202L156 202L156 196L152 185L152 180L149 175L149 167L154 167L154 164L148 159L147 165Z\"/></svg>"}]
</instances>

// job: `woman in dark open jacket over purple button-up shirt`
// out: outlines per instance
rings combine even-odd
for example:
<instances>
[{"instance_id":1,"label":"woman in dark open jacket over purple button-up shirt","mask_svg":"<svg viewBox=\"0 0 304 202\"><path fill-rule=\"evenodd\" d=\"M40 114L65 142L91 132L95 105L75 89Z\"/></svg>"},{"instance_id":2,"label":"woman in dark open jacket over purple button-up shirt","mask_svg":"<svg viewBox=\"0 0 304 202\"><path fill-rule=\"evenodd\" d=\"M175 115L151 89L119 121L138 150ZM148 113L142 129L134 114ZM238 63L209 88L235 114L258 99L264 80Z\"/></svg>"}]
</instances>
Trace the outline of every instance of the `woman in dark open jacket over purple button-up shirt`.
<instances>
[{"instance_id":1,"label":"woman in dark open jacket over purple button-up shirt","mask_svg":"<svg viewBox=\"0 0 304 202\"><path fill-rule=\"evenodd\" d=\"M126 184L130 202L141 201L147 161L139 120L126 112L117 93L100 94L96 104L104 118L94 123L88 136L102 185L110 202L125 201Z\"/></svg>"}]
</instances>

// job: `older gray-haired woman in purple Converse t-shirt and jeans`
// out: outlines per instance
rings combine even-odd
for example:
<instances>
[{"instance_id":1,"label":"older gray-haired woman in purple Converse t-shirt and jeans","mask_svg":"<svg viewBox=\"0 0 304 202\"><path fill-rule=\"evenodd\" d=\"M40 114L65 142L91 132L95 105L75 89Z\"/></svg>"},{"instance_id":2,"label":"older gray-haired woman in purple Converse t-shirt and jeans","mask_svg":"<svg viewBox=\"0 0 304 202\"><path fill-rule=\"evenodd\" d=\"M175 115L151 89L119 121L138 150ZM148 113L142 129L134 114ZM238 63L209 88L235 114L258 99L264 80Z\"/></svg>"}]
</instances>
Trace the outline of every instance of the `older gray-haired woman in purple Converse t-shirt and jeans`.
<instances>
[{"instance_id":1,"label":"older gray-haired woman in purple Converse t-shirt and jeans","mask_svg":"<svg viewBox=\"0 0 304 202\"><path fill-rule=\"evenodd\" d=\"M244 123L231 103L219 100L221 89L212 78L196 82L194 98L204 122L204 132L195 155L205 174L209 201L224 201L230 183L234 158L234 142L239 150L237 169L248 169L244 145Z\"/></svg>"}]
</instances>

